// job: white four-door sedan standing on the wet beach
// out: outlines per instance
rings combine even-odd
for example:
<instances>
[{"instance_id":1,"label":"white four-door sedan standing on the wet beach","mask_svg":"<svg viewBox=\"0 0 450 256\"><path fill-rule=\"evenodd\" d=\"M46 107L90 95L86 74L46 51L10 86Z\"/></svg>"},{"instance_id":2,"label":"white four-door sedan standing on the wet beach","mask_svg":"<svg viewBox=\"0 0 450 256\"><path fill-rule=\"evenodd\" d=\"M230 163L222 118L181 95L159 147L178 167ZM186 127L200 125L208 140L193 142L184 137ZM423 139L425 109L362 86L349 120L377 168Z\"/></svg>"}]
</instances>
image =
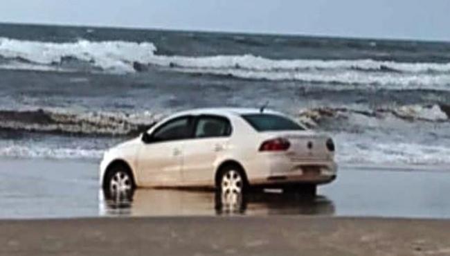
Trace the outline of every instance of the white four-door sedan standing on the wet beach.
<instances>
[{"instance_id":1,"label":"white four-door sedan standing on the wet beach","mask_svg":"<svg viewBox=\"0 0 450 256\"><path fill-rule=\"evenodd\" d=\"M304 190L336 179L334 143L264 109L213 108L175 113L138 138L105 152L100 182L108 194L136 187L250 187Z\"/></svg>"}]
</instances>

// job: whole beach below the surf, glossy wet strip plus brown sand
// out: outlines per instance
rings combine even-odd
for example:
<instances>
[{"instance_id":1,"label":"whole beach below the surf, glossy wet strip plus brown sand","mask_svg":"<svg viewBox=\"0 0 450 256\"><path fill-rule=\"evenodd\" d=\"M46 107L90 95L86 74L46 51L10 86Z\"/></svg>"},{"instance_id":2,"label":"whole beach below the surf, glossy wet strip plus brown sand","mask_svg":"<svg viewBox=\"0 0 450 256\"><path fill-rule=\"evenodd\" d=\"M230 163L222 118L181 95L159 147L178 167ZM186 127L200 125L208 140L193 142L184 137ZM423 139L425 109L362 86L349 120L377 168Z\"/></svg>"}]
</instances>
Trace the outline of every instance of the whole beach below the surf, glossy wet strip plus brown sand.
<instances>
[{"instance_id":1,"label":"whole beach below the surf, glossy wet strip plus brown sand","mask_svg":"<svg viewBox=\"0 0 450 256\"><path fill-rule=\"evenodd\" d=\"M1 159L0 255L450 255L446 171L341 167L314 199L255 193L224 208L183 190L111 203L97 166Z\"/></svg>"}]
</instances>

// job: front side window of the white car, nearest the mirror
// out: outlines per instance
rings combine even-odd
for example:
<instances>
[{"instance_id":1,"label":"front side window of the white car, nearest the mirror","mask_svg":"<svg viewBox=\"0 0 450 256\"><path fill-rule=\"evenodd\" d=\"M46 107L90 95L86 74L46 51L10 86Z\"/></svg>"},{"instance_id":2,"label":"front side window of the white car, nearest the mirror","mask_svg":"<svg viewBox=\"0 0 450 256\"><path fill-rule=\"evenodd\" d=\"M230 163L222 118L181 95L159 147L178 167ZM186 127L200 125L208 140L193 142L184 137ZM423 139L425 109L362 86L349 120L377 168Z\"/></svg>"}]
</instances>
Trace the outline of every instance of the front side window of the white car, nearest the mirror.
<instances>
[{"instance_id":1,"label":"front side window of the white car, nearest the mirror","mask_svg":"<svg viewBox=\"0 0 450 256\"><path fill-rule=\"evenodd\" d=\"M190 116L175 118L157 128L152 137L155 141L183 140L190 138L192 134L191 123L192 118Z\"/></svg>"}]
</instances>

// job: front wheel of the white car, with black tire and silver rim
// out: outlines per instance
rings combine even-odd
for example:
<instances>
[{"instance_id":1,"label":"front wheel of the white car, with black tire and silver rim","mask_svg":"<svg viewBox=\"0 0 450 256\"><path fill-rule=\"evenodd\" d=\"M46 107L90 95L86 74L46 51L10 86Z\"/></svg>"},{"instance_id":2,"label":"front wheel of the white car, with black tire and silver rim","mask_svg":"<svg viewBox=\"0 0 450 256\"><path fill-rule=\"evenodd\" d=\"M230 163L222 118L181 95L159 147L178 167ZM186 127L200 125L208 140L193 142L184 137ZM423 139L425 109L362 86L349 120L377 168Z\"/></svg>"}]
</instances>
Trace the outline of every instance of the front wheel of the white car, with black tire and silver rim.
<instances>
[{"instance_id":1,"label":"front wheel of the white car, with black tire and silver rim","mask_svg":"<svg viewBox=\"0 0 450 256\"><path fill-rule=\"evenodd\" d=\"M106 199L131 200L136 183L134 183L134 176L127 165L116 164L108 168L102 187Z\"/></svg>"}]
</instances>

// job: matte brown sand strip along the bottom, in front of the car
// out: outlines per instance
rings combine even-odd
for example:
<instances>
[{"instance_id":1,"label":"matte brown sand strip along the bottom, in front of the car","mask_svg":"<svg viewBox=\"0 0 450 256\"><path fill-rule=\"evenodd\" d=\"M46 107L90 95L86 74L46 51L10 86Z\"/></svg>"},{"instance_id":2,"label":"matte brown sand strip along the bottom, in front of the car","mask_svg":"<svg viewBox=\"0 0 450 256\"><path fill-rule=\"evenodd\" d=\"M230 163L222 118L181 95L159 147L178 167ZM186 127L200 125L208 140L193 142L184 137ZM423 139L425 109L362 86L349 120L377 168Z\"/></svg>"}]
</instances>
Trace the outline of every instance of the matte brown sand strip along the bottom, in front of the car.
<instances>
[{"instance_id":1,"label":"matte brown sand strip along the bottom, in front of the car","mask_svg":"<svg viewBox=\"0 0 450 256\"><path fill-rule=\"evenodd\" d=\"M330 217L0 221L0 255L450 255L450 222Z\"/></svg>"}]
</instances>

